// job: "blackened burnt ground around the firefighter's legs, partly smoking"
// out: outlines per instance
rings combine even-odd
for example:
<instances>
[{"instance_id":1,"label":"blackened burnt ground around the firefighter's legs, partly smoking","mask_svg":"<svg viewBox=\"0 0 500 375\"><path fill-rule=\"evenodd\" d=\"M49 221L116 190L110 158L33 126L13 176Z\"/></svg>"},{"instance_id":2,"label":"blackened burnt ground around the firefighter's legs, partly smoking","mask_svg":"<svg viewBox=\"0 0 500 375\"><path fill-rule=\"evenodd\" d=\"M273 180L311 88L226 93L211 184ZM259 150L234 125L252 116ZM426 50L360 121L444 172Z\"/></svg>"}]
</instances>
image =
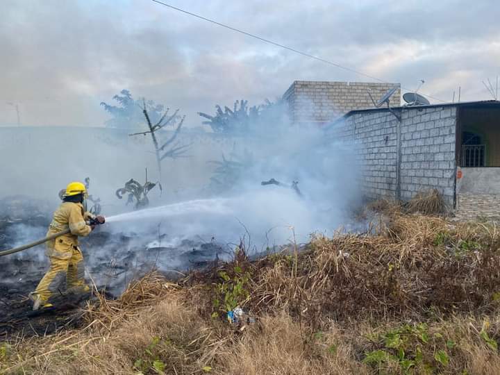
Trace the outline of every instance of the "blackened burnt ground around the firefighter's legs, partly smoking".
<instances>
[{"instance_id":1,"label":"blackened burnt ground around the firefighter's legs, partly smoking","mask_svg":"<svg viewBox=\"0 0 500 375\"><path fill-rule=\"evenodd\" d=\"M50 217L35 204L17 197L0 201L0 250L43 238ZM48 210L50 212L50 210ZM176 240L157 229L141 233L111 233L99 228L81 241L88 281L109 298L118 296L133 279L156 269L178 278L188 269L227 258L226 244L199 239ZM88 296L65 290L51 299L55 306L33 312L28 299L47 269L44 246L0 257L0 340L15 335L44 335L78 325Z\"/></svg>"}]
</instances>

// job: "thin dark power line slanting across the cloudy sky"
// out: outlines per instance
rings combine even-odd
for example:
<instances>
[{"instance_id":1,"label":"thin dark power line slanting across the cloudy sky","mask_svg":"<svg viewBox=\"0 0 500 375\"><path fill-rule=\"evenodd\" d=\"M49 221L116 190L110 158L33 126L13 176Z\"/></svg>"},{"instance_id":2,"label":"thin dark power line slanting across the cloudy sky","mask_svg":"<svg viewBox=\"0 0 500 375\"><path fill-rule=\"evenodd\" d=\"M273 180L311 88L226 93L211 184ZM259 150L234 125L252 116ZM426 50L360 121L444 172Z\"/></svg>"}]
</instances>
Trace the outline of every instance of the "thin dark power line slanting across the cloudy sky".
<instances>
[{"instance_id":1,"label":"thin dark power line slanting across the cloudy sky","mask_svg":"<svg viewBox=\"0 0 500 375\"><path fill-rule=\"evenodd\" d=\"M328 65L333 65L334 67L338 67L340 69L344 69L344 70L347 70L347 72L351 72L351 73L355 73L355 74L358 74L359 76L365 76L367 78L370 78L370 79L373 79L375 81L378 81L378 82L381 82L381 83L389 83L387 81L384 81L383 79L381 78L376 78L374 76L370 76L369 74L365 74L363 72L359 72L358 70L356 69L351 69L349 67L344 67L343 65L340 65L340 64L337 64L337 63L334 63L333 61L330 61L330 60L326 60L324 58L320 58L318 56L314 56L314 55L311 55L309 53L306 53L306 52L303 52L303 51L299 51L298 49L294 49L292 47L288 47L288 46L285 46L284 44L280 44L280 43L277 43L277 42L273 42L272 40L269 40L269 39L266 39L266 38L262 38L258 35L255 35L255 34L252 34L252 33L248 33L247 31L242 31L240 30L239 28L235 28L233 26L229 26L229 25L226 25L226 24L222 24L220 22L217 22L213 19L210 19L210 18L207 18L207 17L203 17L201 15L197 15L196 13L193 13L193 12L188 12L188 10L183 10L181 8L177 8L176 6L172 6L168 3L164 3L163 1L159 1L159 0L151 0L153 1L153 3L157 3L157 4L160 4L160 5L163 5L163 6L166 6L167 8L171 8L171 9L174 9L174 10L177 10L178 12L183 12L185 13L186 15L190 15L192 17L197 17L199 19L203 19L203 21L206 21L206 22L210 22L212 24L215 24L217 26L222 26L224 28L228 28L229 30L231 31L236 31L237 33L240 33L240 34L243 34L243 35L247 35L249 36L250 38L253 38L253 39L256 39L256 40L260 40L261 42L265 42L265 43L268 43L268 44L272 44L276 47L280 47L280 48L283 48L283 49L287 49L288 51L292 51L294 53L298 53L299 55L302 55L302 56L306 56L308 58L313 58L314 60L318 60L318 61L321 61L322 63L326 63ZM402 89L404 90L410 90L412 91L412 89L410 88L404 88L401 86ZM428 94L423 94L421 93L421 95L424 95L424 97L428 97L428 98L431 98L431 99L434 99L434 100L437 100L437 101L442 101L444 102L444 100L442 99L438 99L438 98L435 98L435 97L431 97L431 95L428 95Z\"/></svg>"}]
</instances>

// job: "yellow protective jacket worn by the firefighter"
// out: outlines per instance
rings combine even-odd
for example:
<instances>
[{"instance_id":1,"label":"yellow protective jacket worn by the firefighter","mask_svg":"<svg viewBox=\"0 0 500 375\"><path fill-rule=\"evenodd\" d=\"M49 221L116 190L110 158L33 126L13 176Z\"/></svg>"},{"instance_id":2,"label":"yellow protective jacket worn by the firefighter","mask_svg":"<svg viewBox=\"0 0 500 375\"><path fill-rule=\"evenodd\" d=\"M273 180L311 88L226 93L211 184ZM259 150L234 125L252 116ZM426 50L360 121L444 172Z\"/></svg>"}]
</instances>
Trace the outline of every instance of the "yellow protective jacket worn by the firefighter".
<instances>
[{"instance_id":1,"label":"yellow protective jacket worn by the firefighter","mask_svg":"<svg viewBox=\"0 0 500 375\"><path fill-rule=\"evenodd\" d=\"M52 222L49 226L48 235L65 231L67 228L71 231L66 235L47 241L45 253L47 256L53 256L60 259L72 257L73 249L78 247L78 236L88 235L92 228L85 223L85 219L92 217L86 213L82 203L63 202L53 214Z\"/></svg>"}]
</instances>

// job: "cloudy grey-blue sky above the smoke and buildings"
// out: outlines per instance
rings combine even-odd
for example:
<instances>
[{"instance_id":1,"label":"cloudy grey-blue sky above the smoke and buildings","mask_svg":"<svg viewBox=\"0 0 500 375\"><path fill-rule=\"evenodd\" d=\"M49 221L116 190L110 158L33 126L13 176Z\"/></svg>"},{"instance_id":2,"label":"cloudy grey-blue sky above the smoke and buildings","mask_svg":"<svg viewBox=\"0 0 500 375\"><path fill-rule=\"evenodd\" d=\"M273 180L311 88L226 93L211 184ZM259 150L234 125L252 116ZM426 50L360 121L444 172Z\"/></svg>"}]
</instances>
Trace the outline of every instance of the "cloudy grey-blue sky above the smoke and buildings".
<instances>
[{"instance_id":1,"label":"cloudy grey-blue sky above the smoke and buildings","mask_svg":"<svg viewBox=\"0 0 500 375\"><path fill-rule=\"evenodd\" d=\"M492 99L500 74L498 0L165 2L444 101ZM372 81L151 0L0 0L0 67L0 126L15 103L23 125L101 126L124 88L199 126L295 80Z\"/></svg>"}]
</instances>

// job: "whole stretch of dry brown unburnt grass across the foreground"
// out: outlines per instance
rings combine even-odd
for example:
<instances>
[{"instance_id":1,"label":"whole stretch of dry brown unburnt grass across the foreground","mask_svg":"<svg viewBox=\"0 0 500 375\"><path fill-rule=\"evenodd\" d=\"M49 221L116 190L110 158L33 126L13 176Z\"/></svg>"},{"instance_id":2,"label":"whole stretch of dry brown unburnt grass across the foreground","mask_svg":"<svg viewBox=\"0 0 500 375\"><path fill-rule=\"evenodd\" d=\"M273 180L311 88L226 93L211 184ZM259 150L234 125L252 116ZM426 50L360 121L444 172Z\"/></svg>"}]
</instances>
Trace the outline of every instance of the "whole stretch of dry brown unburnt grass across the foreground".
<instances>
[{"instance_id":1,"label":"whole stretch of dry brown unburnt grass across the foreground","mask_svg":"<svg viewBox=\"0 0 500 375\"><path fill-rule=\"evenodd\" d=\"M0 344L0 372L500 374L499 248L493 224L394 212L377 235L150 274L80 329ZM260 319L235 331L225 303Z\"/></svg>"}]
</instances>

